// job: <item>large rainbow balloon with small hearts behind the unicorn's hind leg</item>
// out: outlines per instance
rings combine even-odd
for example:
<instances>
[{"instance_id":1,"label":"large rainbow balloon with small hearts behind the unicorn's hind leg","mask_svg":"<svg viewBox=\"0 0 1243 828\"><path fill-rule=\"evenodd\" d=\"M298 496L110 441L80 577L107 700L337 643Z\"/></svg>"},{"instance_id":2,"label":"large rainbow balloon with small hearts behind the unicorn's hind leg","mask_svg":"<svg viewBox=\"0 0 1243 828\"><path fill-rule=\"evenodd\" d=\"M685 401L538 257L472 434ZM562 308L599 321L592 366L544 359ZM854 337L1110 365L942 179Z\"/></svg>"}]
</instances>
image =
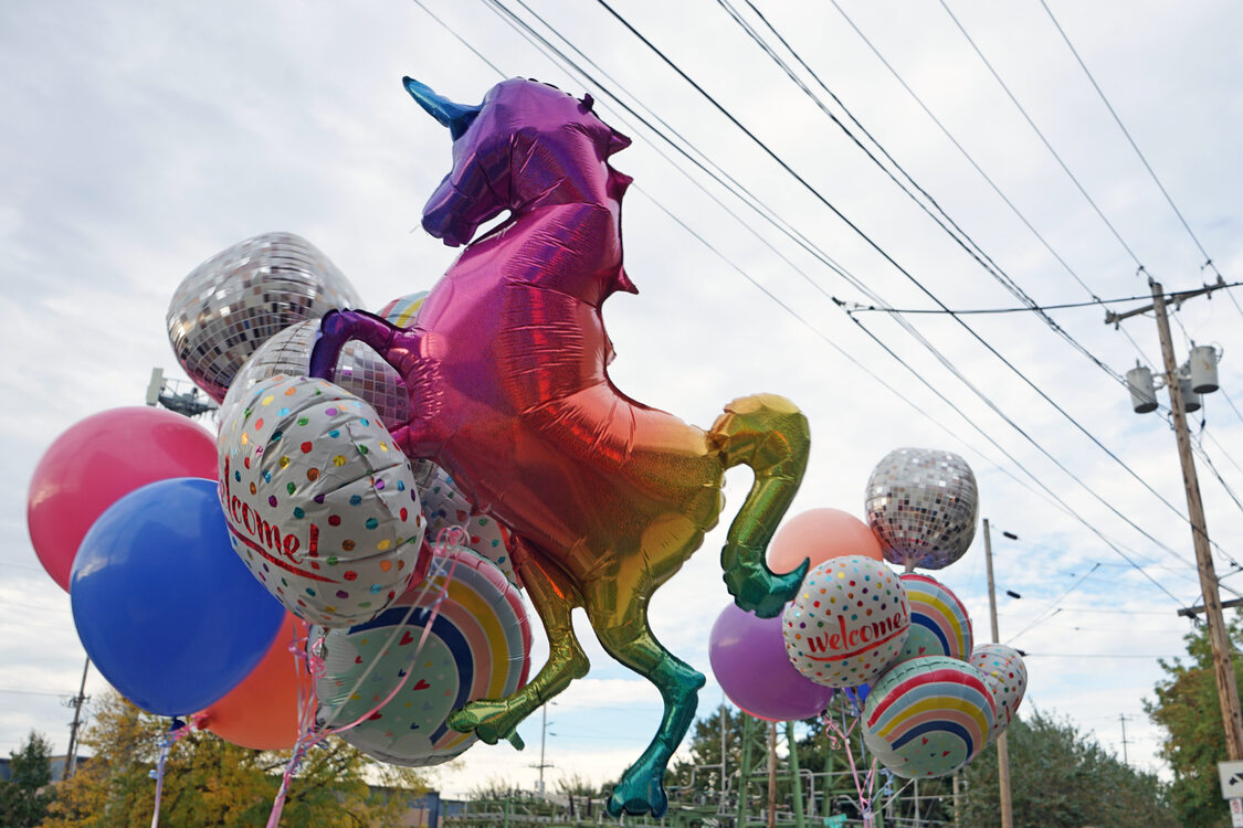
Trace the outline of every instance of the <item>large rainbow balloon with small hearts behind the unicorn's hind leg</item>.
<instances>
[{"instance_id":1,"label":"large rainbow balloon with small hearts behind the unicorn's hind leg","mask_svg":"<svg viewBox=\"0 0 1243 828\"><path fill-rule=\"evenodd\" d=\"M374 621L327 631L324 672L316 682L321 724L339 727L373 711L342 739L380 761L410 767L466 751L477 737L451 730L449 714L475 699L513 693L531 668L522 598L491 561L451 547L433 559L426 583L408 590Z\"/></svg>"}]
</instances>

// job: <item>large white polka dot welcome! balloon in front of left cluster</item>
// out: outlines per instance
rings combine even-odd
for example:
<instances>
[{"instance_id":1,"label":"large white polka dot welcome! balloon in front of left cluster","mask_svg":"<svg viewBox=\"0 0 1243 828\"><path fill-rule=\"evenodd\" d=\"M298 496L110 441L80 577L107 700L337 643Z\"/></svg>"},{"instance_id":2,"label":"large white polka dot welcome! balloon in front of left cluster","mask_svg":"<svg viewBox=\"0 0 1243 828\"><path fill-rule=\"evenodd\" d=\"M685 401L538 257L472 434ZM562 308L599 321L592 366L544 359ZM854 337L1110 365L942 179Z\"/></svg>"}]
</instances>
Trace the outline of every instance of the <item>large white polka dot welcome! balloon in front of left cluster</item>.
<instances>
[{"instance_id":1,"label":"large white polka dot welcome! balloon in front of left cluster","mask_svg":"<svg viewBox=\"0 0 1243 828\"><path fill-rule=\"evenodd\" d=\"M275 376L221 423L218 451L234 549L295 614L359 624L421 577L414 473L362 400Z\"/></svg>"}]
</instances>

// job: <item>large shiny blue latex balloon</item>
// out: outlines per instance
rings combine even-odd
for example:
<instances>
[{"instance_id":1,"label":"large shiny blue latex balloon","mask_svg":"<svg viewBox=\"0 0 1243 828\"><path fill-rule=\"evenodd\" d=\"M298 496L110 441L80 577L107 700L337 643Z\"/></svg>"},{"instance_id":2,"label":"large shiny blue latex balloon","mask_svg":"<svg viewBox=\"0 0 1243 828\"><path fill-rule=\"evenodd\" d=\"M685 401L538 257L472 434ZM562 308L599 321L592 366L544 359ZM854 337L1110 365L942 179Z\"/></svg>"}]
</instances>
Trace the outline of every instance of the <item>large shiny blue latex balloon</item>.
<instances>
[{"instance_id":1,"label":"large shiny blue latex balloon","mask_svg":"<svg viewBox=\"0 0 1243 828\"><path fill-rule=\"evenodd\" d=\"M164 716L236 686L285 614L232 551L216 483L199 478L152 483L99 515L73 561L70 603L99 673Z\"/></svg>"}]
</instances>

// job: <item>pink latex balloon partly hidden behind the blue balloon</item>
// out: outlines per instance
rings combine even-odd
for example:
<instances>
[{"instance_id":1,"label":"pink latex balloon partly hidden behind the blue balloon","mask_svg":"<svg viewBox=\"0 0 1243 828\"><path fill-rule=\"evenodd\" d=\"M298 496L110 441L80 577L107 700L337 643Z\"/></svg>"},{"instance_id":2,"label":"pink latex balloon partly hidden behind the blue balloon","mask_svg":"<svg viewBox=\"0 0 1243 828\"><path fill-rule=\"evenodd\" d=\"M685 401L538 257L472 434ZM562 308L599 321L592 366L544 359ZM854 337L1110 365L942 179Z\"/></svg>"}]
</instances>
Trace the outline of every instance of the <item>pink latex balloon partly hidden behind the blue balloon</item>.
<instances>
[{"instance_id":1,"label":"pink latex balloon partly hidden behind the blue balloon","mask_svg":"<svg viewBox=\"0 0 1243 828\"><path fill-rule=\"evenodd\" d=\"M26 524L39 561L68 592L78 544L104 509L174 477L216 478L216 443L193 420L163 408L112 408L71 426L30 482Z\"/></svg>"}]
</instances>

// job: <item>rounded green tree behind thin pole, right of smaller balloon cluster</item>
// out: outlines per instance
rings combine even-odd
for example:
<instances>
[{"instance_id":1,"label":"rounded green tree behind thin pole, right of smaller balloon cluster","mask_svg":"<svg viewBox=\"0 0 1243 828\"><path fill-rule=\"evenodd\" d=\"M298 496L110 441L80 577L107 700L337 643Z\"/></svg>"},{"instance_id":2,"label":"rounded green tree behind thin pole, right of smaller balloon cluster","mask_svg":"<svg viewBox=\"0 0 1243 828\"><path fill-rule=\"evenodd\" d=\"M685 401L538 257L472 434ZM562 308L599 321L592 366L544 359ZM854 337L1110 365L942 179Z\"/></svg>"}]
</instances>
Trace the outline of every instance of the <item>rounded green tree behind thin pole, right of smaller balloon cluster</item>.
<instances>
[{"instance_id":1,"label":"rounded green tree behind thin pole, right of smaller balloon cluster","mask_svg":"<svg viewBox=\"0 0 1243 828\"><path fill-rule=\"evenodd\" d=\"M1011 797L1018 828L1180 824L1156 776L1119 762L1068 721L1039 710L1014 719L1006 731ZM997 747L962 771L962 828L997 826Z\"/></svg>"}]
</instances>

